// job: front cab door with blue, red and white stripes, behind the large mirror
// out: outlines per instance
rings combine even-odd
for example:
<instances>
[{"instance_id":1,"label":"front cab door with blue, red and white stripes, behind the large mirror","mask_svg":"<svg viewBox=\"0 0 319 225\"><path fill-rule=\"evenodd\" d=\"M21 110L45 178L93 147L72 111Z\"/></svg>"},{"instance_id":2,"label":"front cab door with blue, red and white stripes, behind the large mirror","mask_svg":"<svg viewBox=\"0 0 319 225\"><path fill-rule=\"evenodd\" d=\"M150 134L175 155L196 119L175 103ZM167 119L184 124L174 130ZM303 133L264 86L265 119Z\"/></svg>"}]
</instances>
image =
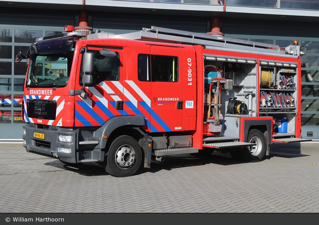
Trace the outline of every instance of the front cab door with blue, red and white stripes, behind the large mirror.
<instances>
[{"instance_id":1,"label":"front cab door with blue, red and white stripes, behind the large mirror","mask_svg":"<svg viewBox=\"0 0 319 225\"><path fill-rule=\"evenodd\" d=\"M75 95L75 126L102 126L108 119L123 115L122 50L111 49L116 56L104 57L103 48L88 48L94 53L93 83L86 86L86 99ZM81 70L82 71L82 70ZM81 76L80 76L81 77ZM82 86L81 78L79 85Z\"/></svg>"}]
</instances>

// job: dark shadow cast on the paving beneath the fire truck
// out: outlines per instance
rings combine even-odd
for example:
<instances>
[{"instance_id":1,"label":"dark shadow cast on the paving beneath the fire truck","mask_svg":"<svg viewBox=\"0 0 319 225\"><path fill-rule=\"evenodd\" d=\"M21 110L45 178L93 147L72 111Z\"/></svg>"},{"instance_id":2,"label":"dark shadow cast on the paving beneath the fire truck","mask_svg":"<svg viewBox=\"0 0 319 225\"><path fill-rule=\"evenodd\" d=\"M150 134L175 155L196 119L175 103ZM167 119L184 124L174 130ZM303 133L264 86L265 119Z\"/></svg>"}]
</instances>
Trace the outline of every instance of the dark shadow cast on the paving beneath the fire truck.
<instances>
[{"instance_id":1,"label":"dark shadow cast on the paving beneath the fire truck","mask_svg":"<svg viewBox=\"0 0 319 225\"><path fill-rule=\"evenodd\" d=\"M296 157L306 157L308 155L301 154L301 145L300 143L274 143L270 145L269 156L266 156L264 160L270 160L275 157L282 158L296 158ZM217 165L234 165L247 163L243 161L234 160L228 153L219 153L214 152L213 154L200 157L192 154L176 155L176 156L167 156L165 157L164 162L158 162L152 159L150 169L140 169L137 171L134 176L143 174L143 173L156 173L161 170L173 170L176 168L182 167L192 167L192 166L202 166L206 164L217 164ZM72 171L84 176L104 176L109 175L105 172L102 164L98 163L86 163L86 164L64 164L59 160L54 160L48 163L45 163L47 166L53 166L63 170Z\"/></svg>"}]
</instances>

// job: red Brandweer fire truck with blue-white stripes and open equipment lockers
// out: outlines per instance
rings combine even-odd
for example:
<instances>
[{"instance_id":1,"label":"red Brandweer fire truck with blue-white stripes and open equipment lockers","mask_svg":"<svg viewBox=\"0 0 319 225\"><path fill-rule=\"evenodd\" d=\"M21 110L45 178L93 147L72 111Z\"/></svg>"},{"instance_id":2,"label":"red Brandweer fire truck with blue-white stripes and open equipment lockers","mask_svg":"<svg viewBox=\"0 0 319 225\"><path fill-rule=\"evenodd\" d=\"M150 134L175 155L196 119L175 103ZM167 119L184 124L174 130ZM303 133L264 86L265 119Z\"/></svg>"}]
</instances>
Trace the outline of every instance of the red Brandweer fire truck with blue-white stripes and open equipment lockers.
<instances>
[{"instance_id":1,"label":"red Brandweer fire truck with blue-white stripes and open equipment lockers","mask_svg":"<svg viewBox=\"0 0 319 225\"><path fill-rule=\"evenodd\" d=\"M151 160L230 153L255 162L301 137L306 47L152 26L85 35L65 26L27 54L23 146L124 177Z\"/></svg>"}]
</instances>

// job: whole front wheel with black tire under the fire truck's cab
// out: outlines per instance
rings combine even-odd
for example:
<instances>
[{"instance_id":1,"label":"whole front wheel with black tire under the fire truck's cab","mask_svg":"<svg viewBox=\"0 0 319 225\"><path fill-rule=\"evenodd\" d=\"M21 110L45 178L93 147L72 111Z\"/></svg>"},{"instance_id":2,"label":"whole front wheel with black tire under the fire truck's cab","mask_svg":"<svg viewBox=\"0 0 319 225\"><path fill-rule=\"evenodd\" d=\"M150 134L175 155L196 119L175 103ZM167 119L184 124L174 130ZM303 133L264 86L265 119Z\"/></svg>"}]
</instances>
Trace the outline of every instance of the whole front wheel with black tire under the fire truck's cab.
<instances>
[{"instance_id":1,"label":"whole front wheel with black tire under the fire truck's cab","mask_svg":"<svg viewBox=\"0 0 319 225\"><path fill-rule=\"evenodd\" d=\"M139 169L142 156L142 148L133 137L119 136L109 147L105 171L116 177L132 176Z\"/></svg>"}]
</instances>

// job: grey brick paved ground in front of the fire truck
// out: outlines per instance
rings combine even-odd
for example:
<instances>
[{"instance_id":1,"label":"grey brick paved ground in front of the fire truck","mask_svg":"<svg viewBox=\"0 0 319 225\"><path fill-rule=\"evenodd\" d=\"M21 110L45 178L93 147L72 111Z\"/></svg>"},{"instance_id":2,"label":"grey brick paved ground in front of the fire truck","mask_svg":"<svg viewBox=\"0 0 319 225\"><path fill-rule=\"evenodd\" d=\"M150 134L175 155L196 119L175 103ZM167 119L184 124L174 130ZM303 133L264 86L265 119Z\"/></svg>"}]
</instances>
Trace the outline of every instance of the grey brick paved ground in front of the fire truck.
<instances>
[{"instance_id":1,"label":"grey brick paved ground in front of the fire truck","mask_svg":"<svg viewBox=\"0 0 319 225\"><path fill-rule=\"evenodd\" d=\"M66 166L0 144L2 213L318 213L319 144L274 144L258 163L214 153L154 162L117 178L97 164Z\"/></svg>"}]
</instances>

